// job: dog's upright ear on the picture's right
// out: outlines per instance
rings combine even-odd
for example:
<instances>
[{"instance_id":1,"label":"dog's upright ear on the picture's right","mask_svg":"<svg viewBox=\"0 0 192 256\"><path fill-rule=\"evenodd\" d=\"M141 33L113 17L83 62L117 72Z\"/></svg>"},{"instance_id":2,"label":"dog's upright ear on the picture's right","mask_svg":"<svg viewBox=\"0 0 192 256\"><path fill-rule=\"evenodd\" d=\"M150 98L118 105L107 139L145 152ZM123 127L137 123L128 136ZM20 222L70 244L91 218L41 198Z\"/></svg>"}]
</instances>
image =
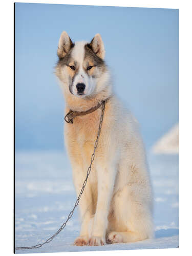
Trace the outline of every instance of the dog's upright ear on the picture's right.
<instances>
[{"instance_id":1,"label":"dog's upright ear on the picture's right","mask_svg":"<svg viewBox=\"0 0 192 256\"><path fill-rule=\"evenodd\" d=\"M104 59L105 50L100 34L96 34L90 42L92 51L101 59Z\"/></svg>"}]
</instances>

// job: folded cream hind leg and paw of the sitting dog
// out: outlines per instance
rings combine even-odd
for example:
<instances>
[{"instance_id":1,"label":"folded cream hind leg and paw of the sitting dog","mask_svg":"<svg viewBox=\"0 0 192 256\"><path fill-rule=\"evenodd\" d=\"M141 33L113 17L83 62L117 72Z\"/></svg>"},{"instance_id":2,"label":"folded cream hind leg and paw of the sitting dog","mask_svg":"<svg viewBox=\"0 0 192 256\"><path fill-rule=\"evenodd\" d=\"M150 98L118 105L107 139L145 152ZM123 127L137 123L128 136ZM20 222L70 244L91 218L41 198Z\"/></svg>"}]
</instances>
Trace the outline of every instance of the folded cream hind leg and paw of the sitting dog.
<instances>
[{"instance_id":1,"label":"folded cream hind leg and paw of the sitting dog","mask_svg":"<svg viewBox=\"0 0 192 256\"><path fill-rule=\"evenodd\" d=\"M113 218L106 243L127 243L153 237L152 212L146 202L140 201L134 191L140 186L125 185L113 199Z\"/></svg>"}]
</instances>

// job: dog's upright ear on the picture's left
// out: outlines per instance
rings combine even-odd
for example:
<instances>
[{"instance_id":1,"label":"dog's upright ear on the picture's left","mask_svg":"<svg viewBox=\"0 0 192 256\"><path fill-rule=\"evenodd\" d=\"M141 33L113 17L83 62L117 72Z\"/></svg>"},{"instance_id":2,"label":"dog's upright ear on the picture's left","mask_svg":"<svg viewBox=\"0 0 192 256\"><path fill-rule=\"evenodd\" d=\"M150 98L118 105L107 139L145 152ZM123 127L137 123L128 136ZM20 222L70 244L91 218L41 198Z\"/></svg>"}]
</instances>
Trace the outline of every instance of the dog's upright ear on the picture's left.
<instances>
[{"instance_id":1,"label":"dog's upright ear on the picture's left","mask_svg":"<svg viewBox=\"0 0 192 256\"><path fill-rule=\"evenodd\" d=\"M66 56L70 49L74 46L71 38L66 31L61 33L58 43L57 55L59 59Z\"/></svg>"}]
</instances>

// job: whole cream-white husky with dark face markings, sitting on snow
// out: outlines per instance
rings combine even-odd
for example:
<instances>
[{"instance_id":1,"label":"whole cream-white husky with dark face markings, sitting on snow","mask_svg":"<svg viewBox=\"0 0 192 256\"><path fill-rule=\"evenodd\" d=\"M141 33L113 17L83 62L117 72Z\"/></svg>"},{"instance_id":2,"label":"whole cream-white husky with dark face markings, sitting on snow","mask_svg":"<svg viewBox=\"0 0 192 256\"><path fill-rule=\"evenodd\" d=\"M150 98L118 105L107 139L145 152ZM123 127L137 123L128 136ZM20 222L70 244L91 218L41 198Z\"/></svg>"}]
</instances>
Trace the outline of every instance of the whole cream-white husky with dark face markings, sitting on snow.
<instances>
[{"instance_id":1,"label":"whole cream-white husky with dark face markings, sitting on snow","mask_svg":"<svg viewBox=\"0 0 192 256\"><path fill-rule=\"evenodd\" d=\"M74 245L126 243L153 237L152 188L137 121L112 90L99 34L73 44L62 32L55 73L66 113L88 111L107 100L99 143L79 207L81 230ZM65 142L77 195L94 150L101 108L65 125Z\"/></svg>"}]
</instances>

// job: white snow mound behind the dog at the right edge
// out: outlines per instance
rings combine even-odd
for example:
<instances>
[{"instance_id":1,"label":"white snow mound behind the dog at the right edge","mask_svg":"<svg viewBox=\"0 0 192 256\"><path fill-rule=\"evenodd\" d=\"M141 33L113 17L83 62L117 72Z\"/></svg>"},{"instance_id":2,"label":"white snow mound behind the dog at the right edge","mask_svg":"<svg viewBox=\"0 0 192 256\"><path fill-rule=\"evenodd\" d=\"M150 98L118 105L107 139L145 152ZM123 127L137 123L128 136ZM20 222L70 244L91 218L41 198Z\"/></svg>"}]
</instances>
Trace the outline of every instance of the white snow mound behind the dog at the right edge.
<instances>
[{"instance_id":1,"label":"white snow mound behind the dog at the right edge","mask_svg":"<svg viewBox=\"0 0 192 256\"><path fill-rule=\"evenodd\" d=\"M179 123L155 143L152 152L154 154L179 154Z\"/></svg>"}]
</instances>

